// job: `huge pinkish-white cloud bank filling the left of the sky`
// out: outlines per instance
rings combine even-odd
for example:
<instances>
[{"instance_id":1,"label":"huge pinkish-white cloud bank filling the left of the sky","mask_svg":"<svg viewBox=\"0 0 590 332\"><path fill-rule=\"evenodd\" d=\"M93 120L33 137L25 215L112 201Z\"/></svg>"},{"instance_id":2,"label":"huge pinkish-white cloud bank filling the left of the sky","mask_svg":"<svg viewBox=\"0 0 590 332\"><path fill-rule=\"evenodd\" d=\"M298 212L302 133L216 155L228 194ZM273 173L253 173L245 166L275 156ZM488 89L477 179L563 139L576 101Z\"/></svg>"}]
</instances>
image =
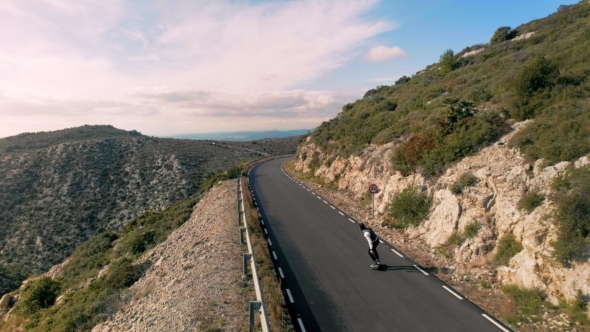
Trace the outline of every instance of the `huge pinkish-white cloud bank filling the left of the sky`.
<instances>
[{"instance_id":1,"label":"huge pinkish-white cloud bank filling the left of the sky","mask_svg":"<svg viewBox=\"0 0 590 332\"><path fill-rule=\"evenodd\" d=\"M364 18L377 3L9 0L0 6L0 116L21 125L0 125L0 137L38 130L43 121L31 117L149 134L188 123L235 130L235 118L323 121L357 96L293 87L394 28Z\"/></svg>"}]
</instances>

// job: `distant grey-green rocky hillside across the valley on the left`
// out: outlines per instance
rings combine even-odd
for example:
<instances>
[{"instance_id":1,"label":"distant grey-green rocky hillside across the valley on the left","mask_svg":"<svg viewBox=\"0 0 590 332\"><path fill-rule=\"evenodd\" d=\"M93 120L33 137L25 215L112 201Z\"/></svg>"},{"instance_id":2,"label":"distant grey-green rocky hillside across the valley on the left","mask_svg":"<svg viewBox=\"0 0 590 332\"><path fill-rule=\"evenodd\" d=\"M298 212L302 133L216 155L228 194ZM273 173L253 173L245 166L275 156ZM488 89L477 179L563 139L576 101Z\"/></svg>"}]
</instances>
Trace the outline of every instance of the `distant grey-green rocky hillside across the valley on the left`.
<instances>
[{"instance_id":1,"label":"distant grey-green rocky hillside across the valley on the left","mask_svg":"<svg viewBox=\"0 0 590 332\"><path fill-rule=\"evenodd\" d=\"M0 294L91 235L186 200L210 174L295 144L163 139L111 126L0 139Z\"/></svg>"}]
</instances>

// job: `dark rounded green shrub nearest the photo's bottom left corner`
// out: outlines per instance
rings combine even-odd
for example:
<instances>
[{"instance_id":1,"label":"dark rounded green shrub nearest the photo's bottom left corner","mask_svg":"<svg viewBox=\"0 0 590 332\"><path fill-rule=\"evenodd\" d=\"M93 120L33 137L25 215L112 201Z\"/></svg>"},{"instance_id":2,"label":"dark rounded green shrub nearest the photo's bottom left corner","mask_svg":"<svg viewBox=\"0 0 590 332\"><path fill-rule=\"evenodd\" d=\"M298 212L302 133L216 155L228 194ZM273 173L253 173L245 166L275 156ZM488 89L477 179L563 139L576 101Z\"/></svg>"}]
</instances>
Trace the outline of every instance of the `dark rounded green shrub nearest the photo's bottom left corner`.
<instances>
[{"instance_id":1,"label":"dark rounded green shrub nearest the photo's bottom left corner","mask_svg":"<svg viewBox=\"0 0 590 332\"><path fill-rule=\"evenodd\" d=\"M25 285L18 302L19 311L30 316L55 303L60 284L49 277L41 277Z\"/></svg>"}]
</instances>

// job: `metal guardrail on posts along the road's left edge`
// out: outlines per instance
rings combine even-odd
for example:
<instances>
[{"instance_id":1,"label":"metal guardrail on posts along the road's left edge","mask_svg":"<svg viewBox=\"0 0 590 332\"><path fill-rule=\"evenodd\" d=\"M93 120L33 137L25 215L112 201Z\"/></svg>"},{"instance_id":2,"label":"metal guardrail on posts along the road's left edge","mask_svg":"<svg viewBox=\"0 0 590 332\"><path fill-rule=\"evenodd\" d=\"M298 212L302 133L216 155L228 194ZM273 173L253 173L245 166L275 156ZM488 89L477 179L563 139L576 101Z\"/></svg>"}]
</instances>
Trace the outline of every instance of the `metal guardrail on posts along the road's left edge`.
<instances>
[{"instance_id":1,"label":"metal guardrail on posts along the road's left edge","mask_svg":"<svg viewBox=\"0 0 590 332\"><path fill-rule=\"evenodd\" d=\"M250 301L249 306L249 319L250 319L250 331L253 331L254 328L254 312L259 311L260 313L260 323L262 325L263 332L270 332L270 325L268 323L268 315L266 313L266 306L264 304L264 297L262 296L262 285L260 283L260 278L258 277L258 270L256 269L256 259L254 259L254 250L252 249L252 242L250 241L250 232L248 231L248 220L246 217L246 209L244 206L244 195L242 193L242 175L244 174L244 170L250 164L258 164L262 163L267 160L277 159L282 157L292 156L289 155L279 155L279 156L270 156L264 157L260 159L256 159L246 163L242 167L242 171L240 172L240 176L238 177L238 226L240 226L240 238L242 243L244 243L244 238L246 239L246 243L248 245L248 253L244 254L244 276L247 276L248 272L248 265L250 265L250 269L252 270L252 281L254 282L254 291L256 292L256 301ZM248 178L250 176L250 170L248 170ZM248 179L248 181L250 181Z\"/></svg>"}]
</instances>

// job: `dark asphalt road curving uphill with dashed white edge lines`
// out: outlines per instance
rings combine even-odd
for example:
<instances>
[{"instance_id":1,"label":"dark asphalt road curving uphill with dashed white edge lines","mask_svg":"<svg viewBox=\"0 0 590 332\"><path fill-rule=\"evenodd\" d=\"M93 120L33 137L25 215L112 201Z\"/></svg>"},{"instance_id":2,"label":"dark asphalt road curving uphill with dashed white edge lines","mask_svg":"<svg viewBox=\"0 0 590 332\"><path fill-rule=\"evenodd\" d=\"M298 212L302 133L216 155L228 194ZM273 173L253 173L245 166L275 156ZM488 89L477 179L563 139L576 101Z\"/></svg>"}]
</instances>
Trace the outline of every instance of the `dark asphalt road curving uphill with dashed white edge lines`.
<instances>
[{"instance_id":1,"label":"dark asphalt road curving uphill with dashed white edge lines","mask_svg":"<svg viewBox=\"0 0 590 332\"><path fill-rule=\"evenodd\" d=\"M372 270L358 221L285 174L286 160L249 180L299 331L510 331L386 242Z\"/></svg>"}]
</instances>

